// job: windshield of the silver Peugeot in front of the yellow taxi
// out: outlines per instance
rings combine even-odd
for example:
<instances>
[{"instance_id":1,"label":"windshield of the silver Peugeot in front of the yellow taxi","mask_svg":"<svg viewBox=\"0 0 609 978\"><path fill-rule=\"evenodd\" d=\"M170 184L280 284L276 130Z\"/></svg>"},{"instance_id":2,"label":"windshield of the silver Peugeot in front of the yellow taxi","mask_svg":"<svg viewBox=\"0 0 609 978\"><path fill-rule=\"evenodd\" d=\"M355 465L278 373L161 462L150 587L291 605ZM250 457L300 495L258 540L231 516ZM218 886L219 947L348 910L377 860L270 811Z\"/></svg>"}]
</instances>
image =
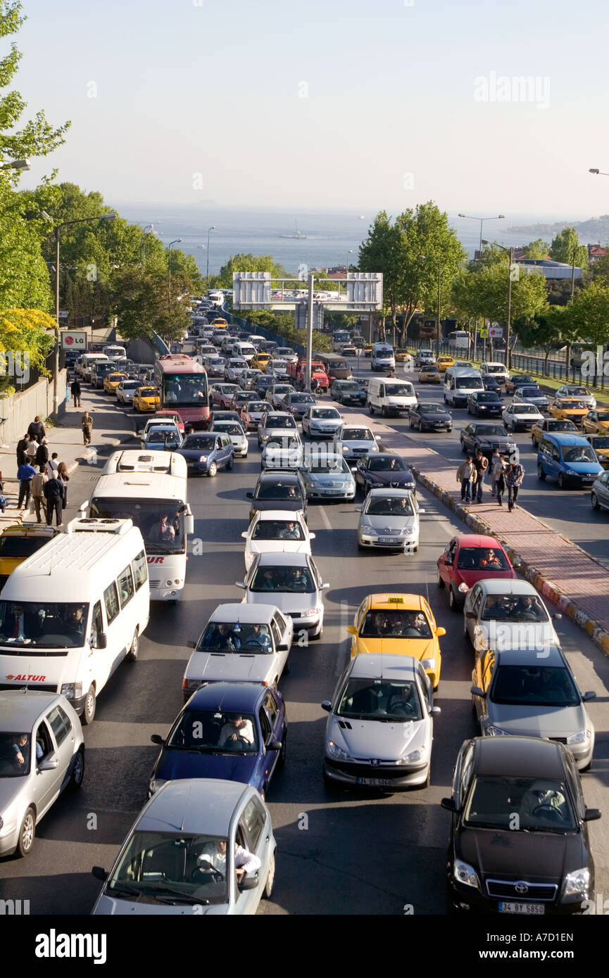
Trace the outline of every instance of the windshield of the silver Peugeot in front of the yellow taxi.
<instances>
[{"instance_id":1,"label":"windshield of the silver Peugeot in front of the yellow taxi","mask_svg":"<svg viewBox=\"0 0 609 978\"><path fill-rule=\"evenodd\" d=\"M423 708L414 683L382 679L350 679L336 711L351 720L411 723L423 719Z\"/></svg>"}]
</instances>

